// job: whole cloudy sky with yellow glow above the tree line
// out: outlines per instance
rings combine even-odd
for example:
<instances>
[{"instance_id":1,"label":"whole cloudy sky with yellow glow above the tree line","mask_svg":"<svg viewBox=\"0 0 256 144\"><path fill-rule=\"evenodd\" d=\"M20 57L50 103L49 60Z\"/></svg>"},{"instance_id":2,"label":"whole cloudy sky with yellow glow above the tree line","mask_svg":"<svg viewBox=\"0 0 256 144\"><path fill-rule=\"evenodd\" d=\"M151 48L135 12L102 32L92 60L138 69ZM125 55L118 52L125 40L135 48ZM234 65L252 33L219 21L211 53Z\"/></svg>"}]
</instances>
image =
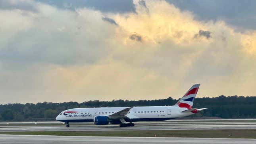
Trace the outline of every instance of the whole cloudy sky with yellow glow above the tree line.
<instances>
[{"instance_id":1,"label":"whole cloudy sky with yellow glow above the tree line","mask_svg":"<svg viewBox=\"0 0 256 144\"><path fill-rule=\"evenodd\" d=\"M255 0L0 0L0 104L256 96Z\"/></svg>"}]
</instances>

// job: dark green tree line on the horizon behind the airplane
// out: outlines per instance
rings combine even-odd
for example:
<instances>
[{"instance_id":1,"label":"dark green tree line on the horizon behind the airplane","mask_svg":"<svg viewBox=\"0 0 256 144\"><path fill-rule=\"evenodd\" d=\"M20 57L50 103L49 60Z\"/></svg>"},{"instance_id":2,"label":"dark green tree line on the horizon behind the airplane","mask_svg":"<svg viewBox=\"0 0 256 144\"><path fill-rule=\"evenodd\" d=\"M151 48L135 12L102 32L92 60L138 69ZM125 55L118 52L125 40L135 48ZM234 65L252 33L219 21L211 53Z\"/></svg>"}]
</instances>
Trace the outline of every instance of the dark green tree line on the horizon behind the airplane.
<instances>
[{"instance_id":1,"label":"dark green tree line on the horizon behind the airplane","mask_svg":"<svg viewBox=\"0 0 256 144\"><path fill-rule=\"evenodd\" d=\"M122 107L122 106L172 106L178 100L171 97L160 100L112 100L64 103L1 104L0 121L50 121L65 109ZM256 118L256 96L218 96L194 100L193 108L208 108L191 117Z\"/></svg>"}]
</instances>

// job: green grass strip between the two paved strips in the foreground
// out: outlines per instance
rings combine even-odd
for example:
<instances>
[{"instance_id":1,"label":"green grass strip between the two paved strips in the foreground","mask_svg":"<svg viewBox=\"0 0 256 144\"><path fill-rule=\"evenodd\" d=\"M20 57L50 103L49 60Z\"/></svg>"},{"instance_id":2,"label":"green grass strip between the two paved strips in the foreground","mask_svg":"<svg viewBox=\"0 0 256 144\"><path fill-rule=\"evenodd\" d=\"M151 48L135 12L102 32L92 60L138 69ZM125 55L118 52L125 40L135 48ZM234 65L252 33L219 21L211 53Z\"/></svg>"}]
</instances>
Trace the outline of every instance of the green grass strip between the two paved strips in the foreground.
<instances>
[{"instance_id":1,"label":"green grass strip between the two paved strips in the foreground","mask_svg":"<svg viewBox=\"0 0 256 144\"><path fill-rule=\"evenodd\" d=\"M163 130L163 131L29 131L0 132L0 134L29 134L56 136L133 136L189 138L256 138L256 129L239 130Z\"/></svg>"}]
</instances>

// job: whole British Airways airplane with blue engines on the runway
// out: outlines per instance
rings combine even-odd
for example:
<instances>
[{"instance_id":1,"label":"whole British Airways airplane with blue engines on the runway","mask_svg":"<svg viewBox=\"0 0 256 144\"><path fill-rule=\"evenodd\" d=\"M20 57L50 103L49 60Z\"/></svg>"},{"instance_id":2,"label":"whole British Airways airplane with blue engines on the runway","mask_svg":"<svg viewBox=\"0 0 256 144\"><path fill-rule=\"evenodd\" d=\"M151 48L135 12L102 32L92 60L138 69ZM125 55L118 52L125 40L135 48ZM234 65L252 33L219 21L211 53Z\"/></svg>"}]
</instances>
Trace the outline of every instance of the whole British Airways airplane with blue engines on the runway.
<instances>
[{"instance_id":1,"label":"whole British Airways airplane with blue engines on the runway","mask_svg":"<svg viewBox=\"0 0 256 144\"><path fill-rule=\"evenodd\" d=\"M200 84L193 85L189 91L173 106L143 107L101 107L74 108L62 111L57 121L69 123L94 122L95 125L119 124L120 127L133 127L136 121L165 121L186 117L206 108L192 108Z\"/></svg>"}]
</instances>

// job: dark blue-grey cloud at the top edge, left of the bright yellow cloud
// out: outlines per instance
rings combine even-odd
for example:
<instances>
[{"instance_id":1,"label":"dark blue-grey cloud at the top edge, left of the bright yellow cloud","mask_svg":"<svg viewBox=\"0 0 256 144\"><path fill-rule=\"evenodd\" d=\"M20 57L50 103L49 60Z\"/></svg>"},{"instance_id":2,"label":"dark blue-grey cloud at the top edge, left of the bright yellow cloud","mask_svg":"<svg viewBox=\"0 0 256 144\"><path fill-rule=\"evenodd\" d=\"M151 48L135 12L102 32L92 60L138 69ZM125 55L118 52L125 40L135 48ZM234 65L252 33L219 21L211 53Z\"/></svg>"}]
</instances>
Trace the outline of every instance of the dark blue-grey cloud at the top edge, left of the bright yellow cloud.
<instances>
[{"instance_id":1,"label":"dark blue-grey cloud at the top edge, left of the bright yellow cloud","mask_svg":"<svg viewBox=\"0 0 256 144\"><path fill-rule=\"evenodd\" d=\"M135 12L133 0L36 0L62 9L93 8L101 12Z\"/></svg>"}]
</instances>

